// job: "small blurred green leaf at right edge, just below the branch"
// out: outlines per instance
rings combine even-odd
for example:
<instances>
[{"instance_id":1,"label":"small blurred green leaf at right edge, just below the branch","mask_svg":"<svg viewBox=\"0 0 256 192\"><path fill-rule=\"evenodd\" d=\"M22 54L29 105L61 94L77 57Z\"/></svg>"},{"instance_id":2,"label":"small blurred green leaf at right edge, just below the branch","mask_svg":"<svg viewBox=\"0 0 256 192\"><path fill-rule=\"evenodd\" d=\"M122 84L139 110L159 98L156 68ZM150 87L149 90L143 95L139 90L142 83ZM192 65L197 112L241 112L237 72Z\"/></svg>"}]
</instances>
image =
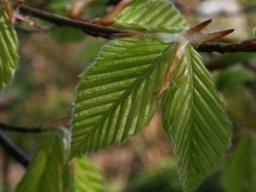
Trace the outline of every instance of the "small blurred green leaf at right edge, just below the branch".
<instances>
[{"instance_id":1,"label":"small blurred green leaf at right edge, just below the branch","mask_svg":"<svg viewBox=\"0 0 256 192\"><path fill-rule=\"evenodd\" d=\"M255 74L243 66L232 66L220 72L217 87L218 89L223 89L225 87L244 84L254 78Z\"/></svg>"}]
</instances>

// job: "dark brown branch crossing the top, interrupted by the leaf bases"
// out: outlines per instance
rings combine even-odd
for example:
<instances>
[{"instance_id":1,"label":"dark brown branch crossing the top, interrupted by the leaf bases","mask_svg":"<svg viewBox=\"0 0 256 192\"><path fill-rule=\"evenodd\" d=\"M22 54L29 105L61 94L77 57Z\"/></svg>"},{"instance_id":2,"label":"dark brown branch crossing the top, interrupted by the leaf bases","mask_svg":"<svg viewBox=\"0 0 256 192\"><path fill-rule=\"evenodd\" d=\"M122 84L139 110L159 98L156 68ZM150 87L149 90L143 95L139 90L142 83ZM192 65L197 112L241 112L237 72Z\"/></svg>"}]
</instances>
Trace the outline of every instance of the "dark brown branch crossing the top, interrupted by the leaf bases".
<instances>
[{"instance_id":1,"label":"dark brown branch crossing the top, interrupted by the leaf bases","mask_svg":"<svg viewBox=\"0 0 256 192\"><path fill-rule=\"evenodd\" d=\"M46 11L37 10L26 5L19 6L20 13L33 15L56 24L57 26L69 26L81 29L86 34L92 36L100 36L102 38L112 39L116 34L131 34L129 31L116 29L114 27L104 27L90 22L83 22L74 20L72 18L61 17ZM129 35L128 35L129 36ZM252 40L243 41L241 43L205 43L204 45L194 46L200 52L220 52L220 53L234 53L234 52L256 52L256 38Z\"/></svg>"}]
</instances>

